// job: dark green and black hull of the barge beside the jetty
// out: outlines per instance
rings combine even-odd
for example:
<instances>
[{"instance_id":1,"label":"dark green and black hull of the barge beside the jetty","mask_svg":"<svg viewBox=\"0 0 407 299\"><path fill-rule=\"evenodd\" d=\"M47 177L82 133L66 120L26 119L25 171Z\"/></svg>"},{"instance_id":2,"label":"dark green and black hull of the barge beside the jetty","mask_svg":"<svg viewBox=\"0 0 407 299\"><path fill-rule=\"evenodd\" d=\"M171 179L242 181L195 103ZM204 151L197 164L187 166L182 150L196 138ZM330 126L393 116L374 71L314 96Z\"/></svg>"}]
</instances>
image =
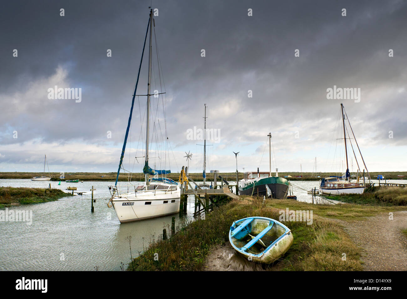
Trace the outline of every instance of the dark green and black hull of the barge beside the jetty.
<instances>
[{"instance_id":1,"label":"dark green and black hull of the barge beside the jetty","mask_svg":"<svg viewBox=\"0 0 407 299\"><path fill-rule=\"evenodd\" d=\"M254 196L267 196L266 185L271 191L271 197L277 199L287 198L288 181L280 177L263 178L245 188L239 187L240 195L254 195Z\"/></svg>"}]
</instances>

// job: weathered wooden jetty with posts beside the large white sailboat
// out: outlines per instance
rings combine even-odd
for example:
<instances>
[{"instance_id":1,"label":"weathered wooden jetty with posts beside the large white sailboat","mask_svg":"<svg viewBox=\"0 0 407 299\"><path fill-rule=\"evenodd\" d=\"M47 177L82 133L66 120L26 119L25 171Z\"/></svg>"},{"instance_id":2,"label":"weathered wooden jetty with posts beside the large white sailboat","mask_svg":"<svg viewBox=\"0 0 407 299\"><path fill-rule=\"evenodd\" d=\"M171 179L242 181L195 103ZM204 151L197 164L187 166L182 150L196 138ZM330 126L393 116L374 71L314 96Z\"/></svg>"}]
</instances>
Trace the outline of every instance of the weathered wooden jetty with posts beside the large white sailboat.
<instances>
[{"instance_id":1,"label":"weathered wooden jetty with posts beside the large white sailboat","mask_svg":"<svg viewBox=\"0 0 407 299\"><path fill-rule=\"evenodd\" d=\"M240 199L240 197L232 193L232 185L230 185L221 176L218 177L221 181L220 189L217 189L217 178L214 177L214 189L202 189L199 185L188 176L188 167L183 166L179 176L181 183L181 200L179 202L179 216L186 215L186 204L189 195L195 196L195 211L194 216L199 215L202 211L213 211L214 207L228 202L231 199ZM237 185L237 184L236 184ZM238 188L236 186L236 188ZM237 193L237 192L236 192ZM203 198L201 198L203 196Z\"/></svg>"}]
</instances>

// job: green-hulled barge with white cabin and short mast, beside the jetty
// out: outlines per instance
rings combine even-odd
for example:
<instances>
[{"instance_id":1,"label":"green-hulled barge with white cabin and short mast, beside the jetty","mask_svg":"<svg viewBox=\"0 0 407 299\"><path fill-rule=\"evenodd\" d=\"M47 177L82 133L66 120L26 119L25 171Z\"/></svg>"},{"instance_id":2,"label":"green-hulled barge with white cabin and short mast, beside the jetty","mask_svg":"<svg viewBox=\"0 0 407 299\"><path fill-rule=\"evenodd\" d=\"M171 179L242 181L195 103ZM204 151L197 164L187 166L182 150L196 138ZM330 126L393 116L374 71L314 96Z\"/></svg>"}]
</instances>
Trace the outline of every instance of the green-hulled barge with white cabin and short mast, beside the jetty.
<instances>
[{"instance_id":1,"label":"green-hulled barge with white cabin and short mast, beside the jetty","mask_svg":"<svg viewBox=\"0 0 407 299\"><path fill-rule=\"evenodd\" d=\"M247 171L244 178L239 180L239 193L241 195L266 196L271 198L283 199L287 197L289 181L278 176L271 176L271 133L269 137L269 172Z\"/></svg>"}]
</instances>

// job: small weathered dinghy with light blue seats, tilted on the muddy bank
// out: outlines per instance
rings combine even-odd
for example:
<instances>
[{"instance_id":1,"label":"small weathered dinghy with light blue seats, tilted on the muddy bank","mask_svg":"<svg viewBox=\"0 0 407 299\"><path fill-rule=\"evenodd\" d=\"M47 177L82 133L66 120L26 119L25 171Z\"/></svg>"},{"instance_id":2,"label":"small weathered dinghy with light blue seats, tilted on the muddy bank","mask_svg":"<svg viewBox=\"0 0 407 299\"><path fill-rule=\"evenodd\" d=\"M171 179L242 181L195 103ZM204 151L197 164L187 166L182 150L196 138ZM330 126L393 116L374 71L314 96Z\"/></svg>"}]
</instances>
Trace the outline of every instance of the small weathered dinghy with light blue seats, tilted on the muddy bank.
<instances>
[{"instance_id":1,"label":"small weathered dinghy with light blue seats, tilted on the muddy bank","mask_svg":"<svg viewBox=\"0 0 407 299\"><path fill-rule=\"evenodd\" d=\"M245 257L270 264L293 244L293 234L284 224L265 217L247 217L230 226L229 241Z\"/></svg>"}]
</instances>

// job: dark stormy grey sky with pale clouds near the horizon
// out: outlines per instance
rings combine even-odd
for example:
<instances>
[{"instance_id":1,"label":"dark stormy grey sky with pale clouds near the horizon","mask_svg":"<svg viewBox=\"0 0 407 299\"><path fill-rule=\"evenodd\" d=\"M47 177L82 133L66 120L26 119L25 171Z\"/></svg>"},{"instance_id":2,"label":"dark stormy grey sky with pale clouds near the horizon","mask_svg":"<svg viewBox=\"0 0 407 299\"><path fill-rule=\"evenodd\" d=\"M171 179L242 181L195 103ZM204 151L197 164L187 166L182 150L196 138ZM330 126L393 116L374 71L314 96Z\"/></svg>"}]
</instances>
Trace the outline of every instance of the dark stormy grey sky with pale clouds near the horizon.
<instances>
[{"instance_id":1,"label":"dark stormy grey sky with pale clouds near the horizon","mask_svg":"<svg viewBox=\"0 0 407 299\"><path fill-rule=\"evenodd\" d=\"M312 171L315 157L318 171L342 171L344 103L368 169L407 169L405 1L17 0L0 11L0 171L41 172L44 154L52 172L117 171L149 6L153 89L166 92L151 103L151 166L178 172L190 151L190 171L202 171L203 141L187 131L203 128L206 103L207 128L219 133L207 171L234 171L233 151L239 171L268 171L269 132L273 171ZM81 101L49 99L55 86L81 88ZM360 97L327 99L334 86ZM134 172L145 108L136 97L124 160ZM348 155L355 171L350 143Z\"/></svg>"}]
</instances>

